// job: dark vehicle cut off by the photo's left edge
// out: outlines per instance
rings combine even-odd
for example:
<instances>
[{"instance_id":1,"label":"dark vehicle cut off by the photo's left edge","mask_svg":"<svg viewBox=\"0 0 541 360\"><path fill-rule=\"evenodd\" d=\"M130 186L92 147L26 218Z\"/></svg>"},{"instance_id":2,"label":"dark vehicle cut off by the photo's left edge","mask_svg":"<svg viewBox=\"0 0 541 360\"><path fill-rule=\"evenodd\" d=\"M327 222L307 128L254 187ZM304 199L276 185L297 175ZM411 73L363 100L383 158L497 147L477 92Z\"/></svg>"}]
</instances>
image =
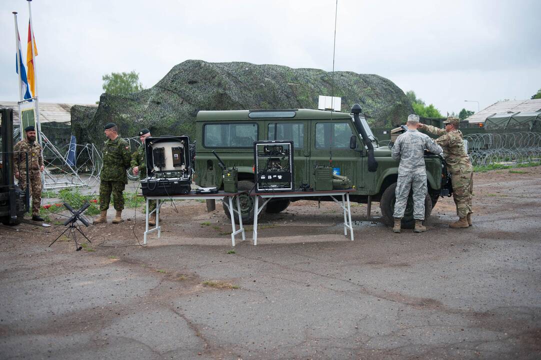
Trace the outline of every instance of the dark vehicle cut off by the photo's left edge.
<instances>
[{"instance_id":1,"label":"dark vehicle cut off by the photo's left edge","mask_svg":"<svg viewBox=\"0 0 541 360\"><path fill-rule=\"evenodd\" d=\"M30 194L15 184L13 176L13 110L0 108L0 222L17 225L28 211ZM28 154L27 154L27 184Z\"/></svg>"}]
</instances>

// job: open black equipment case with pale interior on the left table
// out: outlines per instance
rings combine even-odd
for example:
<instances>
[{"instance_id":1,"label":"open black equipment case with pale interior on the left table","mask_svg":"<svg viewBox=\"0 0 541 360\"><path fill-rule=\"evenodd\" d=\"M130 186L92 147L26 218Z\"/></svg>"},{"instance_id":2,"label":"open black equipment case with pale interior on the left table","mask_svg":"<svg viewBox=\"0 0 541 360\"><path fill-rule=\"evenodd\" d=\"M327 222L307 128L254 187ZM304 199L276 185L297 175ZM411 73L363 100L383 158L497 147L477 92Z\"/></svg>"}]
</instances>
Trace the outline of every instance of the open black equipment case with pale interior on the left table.
<instances>
[{"instance_id":1,"label":"open black equipment case with pale interior on the left table","mask_svg":"<svg viewBox=\"0 0 541 360\"><path fill-rule=\"evenodd\" d=\"M144 139L147 178L141 180L144 196L184 195L192 190L192 159L188 136Z\"/></svg>"}]
</instances>

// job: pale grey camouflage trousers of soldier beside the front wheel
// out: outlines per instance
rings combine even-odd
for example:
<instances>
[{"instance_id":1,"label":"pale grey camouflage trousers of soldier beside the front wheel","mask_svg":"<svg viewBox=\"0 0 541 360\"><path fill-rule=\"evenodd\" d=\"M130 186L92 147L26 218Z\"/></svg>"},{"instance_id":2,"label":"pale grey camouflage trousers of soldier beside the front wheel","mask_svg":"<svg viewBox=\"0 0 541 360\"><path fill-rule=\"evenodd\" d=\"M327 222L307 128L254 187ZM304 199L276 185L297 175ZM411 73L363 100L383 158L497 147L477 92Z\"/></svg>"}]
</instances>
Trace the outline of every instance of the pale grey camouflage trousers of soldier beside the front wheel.
<instances>
[{"instance_id":1,"label":"pale grey camouflage trousers of soldier beside the front wheel","mask_svg":"<svg viewBox=\"0 0 541 360\"><path fill-rule=\"evenodd\" d=\"M398 175L397 188L394 192L394 218L403 218L406 211L407 198L413 189L413 218L425 219L425 198L428 192L426 174Z\"/></svg>"}]
</instances>

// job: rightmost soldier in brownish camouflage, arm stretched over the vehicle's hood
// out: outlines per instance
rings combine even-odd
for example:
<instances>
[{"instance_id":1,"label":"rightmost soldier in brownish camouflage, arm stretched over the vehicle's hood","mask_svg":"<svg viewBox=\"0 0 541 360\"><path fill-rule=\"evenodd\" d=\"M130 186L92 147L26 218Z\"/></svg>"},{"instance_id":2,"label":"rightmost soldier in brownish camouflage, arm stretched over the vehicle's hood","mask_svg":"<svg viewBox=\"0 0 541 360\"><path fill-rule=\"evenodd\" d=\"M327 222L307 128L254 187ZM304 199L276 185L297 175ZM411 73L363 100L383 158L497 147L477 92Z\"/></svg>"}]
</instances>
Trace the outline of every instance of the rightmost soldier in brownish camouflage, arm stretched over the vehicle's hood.
<instances>
[{"instance_id":1,"label":"rightmost soldier in brownish camouflage, arm stretched over the vehicle's hood","mask_svg":"<svg viewBox=\"0 0 541 360\"><path fill-rule=\"evenodd\" d=\"M443 123L445 129L424 124L419 124L418 128L439 136L436 142L443 148L447 171L451 173L453 199L459 220L449 226L469 227L472 225L472 163L464 148L464 137L458 129L459 119L449 116Z\"/></svg>"}]
</instances>

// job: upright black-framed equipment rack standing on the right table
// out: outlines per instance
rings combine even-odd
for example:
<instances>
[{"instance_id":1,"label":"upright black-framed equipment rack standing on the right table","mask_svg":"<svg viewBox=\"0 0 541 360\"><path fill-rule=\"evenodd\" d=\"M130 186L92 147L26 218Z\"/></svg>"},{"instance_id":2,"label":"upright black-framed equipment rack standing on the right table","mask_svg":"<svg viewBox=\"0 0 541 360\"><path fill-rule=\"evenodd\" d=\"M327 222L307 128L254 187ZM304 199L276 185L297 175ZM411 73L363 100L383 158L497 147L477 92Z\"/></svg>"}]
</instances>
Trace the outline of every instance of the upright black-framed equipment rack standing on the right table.
<instances>
[{"instance_id":1,"label":"upright black-framed equipment rack standing on the right table","mask_svg":"<svg viewBox=\"0 0 541 360\"><path fill-rule=\"evenodd\" d=\"M255 192L294 191L293 141L254 141Z\"/></svg>"}]
</instances>

